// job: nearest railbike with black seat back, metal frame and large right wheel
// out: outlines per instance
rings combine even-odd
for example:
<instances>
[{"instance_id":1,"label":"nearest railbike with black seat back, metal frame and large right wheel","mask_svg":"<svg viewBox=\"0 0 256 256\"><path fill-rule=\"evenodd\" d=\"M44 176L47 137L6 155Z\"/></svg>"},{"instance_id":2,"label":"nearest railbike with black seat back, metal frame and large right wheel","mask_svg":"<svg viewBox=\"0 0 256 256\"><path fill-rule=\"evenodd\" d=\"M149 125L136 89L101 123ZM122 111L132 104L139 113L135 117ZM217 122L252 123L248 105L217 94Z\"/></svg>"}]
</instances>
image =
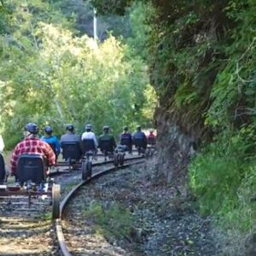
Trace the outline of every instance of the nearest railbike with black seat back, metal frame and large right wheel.
<instances>
[{"instance_id":1,"label":"nearest railbike with black seat back, metal frame and large right wheel","mask_svg":"<svg viewBox=\"0 0 256 256\"><path fill-rule=\"evenodd\" d=\"M60 217L61 186L46 177L48 168L44 157L39 154L20 154L16 167L15 185L0 185L0 197L11 201L27 198L28 207L39 199L49 200L52 206L52 218ZM11 205L11 203L10 203Z\"/></svg>"}]
</instances>

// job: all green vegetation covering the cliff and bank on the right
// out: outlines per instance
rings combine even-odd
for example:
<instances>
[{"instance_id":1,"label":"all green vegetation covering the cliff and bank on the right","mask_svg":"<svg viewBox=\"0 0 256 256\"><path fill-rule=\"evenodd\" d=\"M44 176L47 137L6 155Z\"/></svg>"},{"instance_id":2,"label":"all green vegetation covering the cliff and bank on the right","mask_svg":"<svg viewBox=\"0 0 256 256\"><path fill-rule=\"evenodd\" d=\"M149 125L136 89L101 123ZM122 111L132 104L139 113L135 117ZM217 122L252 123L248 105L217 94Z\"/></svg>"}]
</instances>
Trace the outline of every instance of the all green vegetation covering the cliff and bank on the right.
<instances>
[{"instance_id":1,"label":"all green vegetation covering the cliff and bank on the right","mask_svg":"<svg viewBox=\"0 0 256 256\"><path fill-rule=\"evenodd\" d=\"M201 212L248 232L255 219L255 1L150 3L146 59L160 105L184 133L204 134L189 166Z\"/></svg>"}]
</instances>

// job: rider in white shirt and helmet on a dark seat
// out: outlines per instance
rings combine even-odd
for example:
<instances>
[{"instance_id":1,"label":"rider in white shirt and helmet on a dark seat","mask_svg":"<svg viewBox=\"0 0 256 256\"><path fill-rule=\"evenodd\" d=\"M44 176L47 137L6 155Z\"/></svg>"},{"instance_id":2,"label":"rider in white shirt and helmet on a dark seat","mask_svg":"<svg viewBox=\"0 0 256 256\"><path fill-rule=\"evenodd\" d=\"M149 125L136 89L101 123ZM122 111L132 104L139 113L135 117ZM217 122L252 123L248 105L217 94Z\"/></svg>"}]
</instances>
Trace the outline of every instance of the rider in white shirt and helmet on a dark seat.
<instances>
[{"instance_id":1,"label":"rider in white shirt and helmet on a dark seat","mask_svg":"<svg viewBox=\"0 0 256 256\"><path fill-rule=\"evenodd\" d=\"M84 128L85 131L81 137L83 154L92 151L95 155L98 147L98 142L95 133L92 131L92 125L87 124Z\"/></svg>"}]
</instances>

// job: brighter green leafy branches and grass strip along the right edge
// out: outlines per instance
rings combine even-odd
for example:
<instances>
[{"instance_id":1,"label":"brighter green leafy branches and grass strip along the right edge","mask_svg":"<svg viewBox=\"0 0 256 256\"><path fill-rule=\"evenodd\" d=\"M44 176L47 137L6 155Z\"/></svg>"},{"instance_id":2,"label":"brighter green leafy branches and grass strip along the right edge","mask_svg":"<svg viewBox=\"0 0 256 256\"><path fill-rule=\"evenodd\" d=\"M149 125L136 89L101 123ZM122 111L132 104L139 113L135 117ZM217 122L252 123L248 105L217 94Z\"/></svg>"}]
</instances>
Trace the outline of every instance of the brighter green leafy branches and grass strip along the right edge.
<instances>
[{"instance_id":1,"label":"brighter green leafy branches and grass strip along the right edge","mask_svg":"<svg viewBox=\"0 0 256 256\"><path fill-rule=\"evenodd\" d=\"M229 1L224 9L232 29L218 44L226 59L205 114L205 125L222 132L189 166L202 212L214 213L228 229L246 232L255 219L255 8L253 1Z\"/></svg>"}]
</instances>

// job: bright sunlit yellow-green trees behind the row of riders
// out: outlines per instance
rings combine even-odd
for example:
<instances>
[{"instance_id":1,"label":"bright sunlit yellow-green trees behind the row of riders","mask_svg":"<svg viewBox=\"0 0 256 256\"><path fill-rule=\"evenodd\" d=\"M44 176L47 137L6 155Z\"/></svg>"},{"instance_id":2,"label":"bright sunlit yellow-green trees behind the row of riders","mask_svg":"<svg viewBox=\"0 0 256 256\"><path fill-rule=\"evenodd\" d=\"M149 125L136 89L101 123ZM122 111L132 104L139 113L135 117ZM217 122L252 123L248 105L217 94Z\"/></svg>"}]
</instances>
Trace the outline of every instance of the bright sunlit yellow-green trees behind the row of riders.
<instances>
[{"instance_id":1,"label":"bright sunlit yellow-green trees behind the row of riders","mask_svg":"<svg viewBox=\"0 0 256 256\"><path fill-rule=\"evenodd\" d=\"M70 30L73 21L61 26L54 22L54 6L33 0L16 9L11 40L1 38L1 125L4 137L9 137L6 147L20 140L20 131L30 121L40 127L52 125L56 135L71 122L78 132L84 131L86 122L97 133L108 124L114 134L123 125L132 129L137 122L149 124L154 91L141 57L112 36L102 44L85 35L75 37Z\"/></svg>"}]
</instances>

